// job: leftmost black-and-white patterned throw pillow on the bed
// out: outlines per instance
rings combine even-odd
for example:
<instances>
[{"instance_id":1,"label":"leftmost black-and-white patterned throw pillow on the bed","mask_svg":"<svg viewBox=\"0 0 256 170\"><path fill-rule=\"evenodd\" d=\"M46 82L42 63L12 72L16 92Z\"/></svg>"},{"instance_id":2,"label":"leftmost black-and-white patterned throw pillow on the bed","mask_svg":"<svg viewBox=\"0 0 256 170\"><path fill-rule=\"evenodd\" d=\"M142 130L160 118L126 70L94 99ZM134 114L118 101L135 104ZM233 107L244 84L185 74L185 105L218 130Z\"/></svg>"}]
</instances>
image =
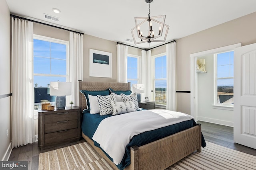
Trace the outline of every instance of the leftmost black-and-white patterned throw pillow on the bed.
<instances>
[{"instance_id":1,"label":"leftmost black-and-white patterned throw pillow on the bed","mask_svg":"<svg viewBox=\"0 0 256 170\"><path fill-rule=\"evenodd\" d=\"M116 101L115 94L111 93L108 96L97 95L97 99L100 106L100 115L112 114L113 107L112 107L111 101L114 101L114 102Z\"/></svg>"}]
</instances>

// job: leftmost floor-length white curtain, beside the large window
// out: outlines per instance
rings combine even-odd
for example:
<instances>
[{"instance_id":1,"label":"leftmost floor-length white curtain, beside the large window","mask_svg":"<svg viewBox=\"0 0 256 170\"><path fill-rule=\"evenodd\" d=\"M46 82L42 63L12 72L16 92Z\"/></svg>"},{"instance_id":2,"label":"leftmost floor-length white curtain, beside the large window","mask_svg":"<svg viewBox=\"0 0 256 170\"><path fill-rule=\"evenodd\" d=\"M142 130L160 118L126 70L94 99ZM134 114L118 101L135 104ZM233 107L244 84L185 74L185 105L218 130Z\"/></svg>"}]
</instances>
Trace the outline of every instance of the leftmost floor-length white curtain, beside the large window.
<instances>
[{"instance_id":1,"label":"leftmost floor-length white curtain, beside the large window","mask_svg":"<svg viewBox=\"0 0 256 170\"><path fill-rule=\"evenodd\" d=\"M33 23L12 18L12 148L33 143Z\"/></svg>"}]
</instances>

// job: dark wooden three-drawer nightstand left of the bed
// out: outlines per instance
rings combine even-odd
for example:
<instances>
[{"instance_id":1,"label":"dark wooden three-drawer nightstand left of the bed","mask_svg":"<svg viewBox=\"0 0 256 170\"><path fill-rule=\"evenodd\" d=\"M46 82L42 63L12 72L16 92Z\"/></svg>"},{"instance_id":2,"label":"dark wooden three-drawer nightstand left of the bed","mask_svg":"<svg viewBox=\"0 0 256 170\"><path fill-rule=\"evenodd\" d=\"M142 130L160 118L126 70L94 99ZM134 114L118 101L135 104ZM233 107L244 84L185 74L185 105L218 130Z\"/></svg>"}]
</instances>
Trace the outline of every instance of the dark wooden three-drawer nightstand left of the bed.
<instances>
[{"instance_id":1,"label":"dark wooden three-drawer nightstand left of the bed","mask_svg":"<svg viewBox=\"0 0 256 170\"><path fill-rule=\"evenodd\" d=\"M79 141L81 136L80 107L38 111L38 147L41 150Z\"/></svg>"}]
</instances>

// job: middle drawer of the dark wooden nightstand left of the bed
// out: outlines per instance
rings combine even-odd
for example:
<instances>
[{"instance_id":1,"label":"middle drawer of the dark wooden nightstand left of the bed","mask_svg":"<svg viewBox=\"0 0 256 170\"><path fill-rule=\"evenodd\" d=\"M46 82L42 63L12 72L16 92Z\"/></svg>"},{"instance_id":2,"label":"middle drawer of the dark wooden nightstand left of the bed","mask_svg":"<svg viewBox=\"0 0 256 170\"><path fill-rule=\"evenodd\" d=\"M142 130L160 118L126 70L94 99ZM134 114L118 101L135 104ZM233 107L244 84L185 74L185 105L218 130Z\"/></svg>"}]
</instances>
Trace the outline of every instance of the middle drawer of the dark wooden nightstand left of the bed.
<instances>
[{"instance_id":1,"label":"middle drawer of the dark wooden nightstand left of the bed","mask_svg":"<svg viewBox=\"0 0 256 170\"><path fill-rule=\"evenodd\" d=\"M66 129L74 129L77 128L77 126L77 119L57 121L54 123L46 123L44 124L44 133L52 133L57 131L63 131Z\"/></svg>"}]
</instances>

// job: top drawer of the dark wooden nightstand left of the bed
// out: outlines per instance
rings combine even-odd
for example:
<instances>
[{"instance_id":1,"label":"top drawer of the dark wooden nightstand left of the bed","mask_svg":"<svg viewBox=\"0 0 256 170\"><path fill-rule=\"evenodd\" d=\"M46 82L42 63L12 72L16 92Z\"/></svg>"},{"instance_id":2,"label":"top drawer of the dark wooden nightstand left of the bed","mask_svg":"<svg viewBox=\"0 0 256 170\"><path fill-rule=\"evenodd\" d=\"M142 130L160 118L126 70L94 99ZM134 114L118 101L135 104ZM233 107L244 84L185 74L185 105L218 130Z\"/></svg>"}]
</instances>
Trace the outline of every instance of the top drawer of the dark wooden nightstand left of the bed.
<instances>
[{"instance_id":1,"label":"top drawer of the dark wooden nightstand left of the bed","mask_svg":"<svg viewBox=\"0 0 256 170\"><path fill-rule=\"evenodd\" d=\"M66 111L65 110L61 113L54 113L49 115L44 115L44 123L54 123L57 121L65 121L65 120L74 120L78 119L78 112L77 111Z\"/></svg>"}]
</instances>

